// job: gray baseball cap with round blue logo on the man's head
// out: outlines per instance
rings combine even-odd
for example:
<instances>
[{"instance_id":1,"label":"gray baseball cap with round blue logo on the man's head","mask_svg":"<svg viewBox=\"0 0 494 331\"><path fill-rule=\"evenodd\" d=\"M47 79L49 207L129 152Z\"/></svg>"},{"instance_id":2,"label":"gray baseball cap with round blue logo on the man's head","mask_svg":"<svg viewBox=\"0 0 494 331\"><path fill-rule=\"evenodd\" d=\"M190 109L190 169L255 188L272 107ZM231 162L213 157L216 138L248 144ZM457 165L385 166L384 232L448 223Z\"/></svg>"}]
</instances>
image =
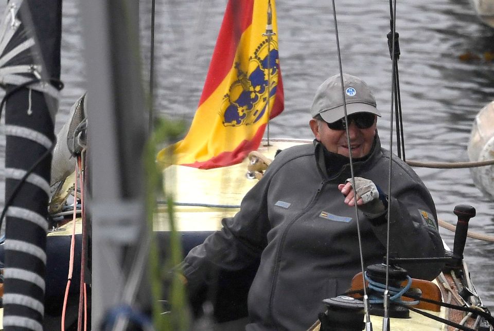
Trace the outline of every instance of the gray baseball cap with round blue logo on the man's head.
<instances>
[{"instance_id":1,"label":"gray baseball cap with round blue logo on the man's head","mask_svg":"<svg viewBox=\"0 0 494 331\"><path fill-rule=\"evenodd\" d=\"M355 113L372 113L381 116L376 108L376 99L371 89L360 78L343 73L347 115ZM345 117L344 102L341 96L340 75L329 77L317 88L310 115L321 115L328 123Z\"/></svg>"}]
</instances>

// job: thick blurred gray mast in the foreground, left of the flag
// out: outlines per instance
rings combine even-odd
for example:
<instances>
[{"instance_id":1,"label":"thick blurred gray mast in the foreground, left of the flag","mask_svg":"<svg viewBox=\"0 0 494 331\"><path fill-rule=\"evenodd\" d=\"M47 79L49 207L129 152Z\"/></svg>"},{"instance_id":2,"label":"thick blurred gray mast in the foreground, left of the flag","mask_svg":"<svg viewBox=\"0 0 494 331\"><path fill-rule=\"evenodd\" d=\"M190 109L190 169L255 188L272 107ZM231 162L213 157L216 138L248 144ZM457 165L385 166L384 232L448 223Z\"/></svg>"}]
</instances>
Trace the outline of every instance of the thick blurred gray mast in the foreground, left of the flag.
<instances>
[{"instance_id":1,"label":"thick blurred gray mast in the foreground, left of the flag","mask_svg":"<svg viewBox=\"0 0 494 331\"><path fill-rule=\"evenodd\" d=\"M92 327L99 329L104 314L117 305L130 305L136 295L136 289L126 288L132 274L132 263L126 262L146 242L142 167L146 112L138 2L89 0L81 12L89 82Z\"/></svg>"}]
</instances>

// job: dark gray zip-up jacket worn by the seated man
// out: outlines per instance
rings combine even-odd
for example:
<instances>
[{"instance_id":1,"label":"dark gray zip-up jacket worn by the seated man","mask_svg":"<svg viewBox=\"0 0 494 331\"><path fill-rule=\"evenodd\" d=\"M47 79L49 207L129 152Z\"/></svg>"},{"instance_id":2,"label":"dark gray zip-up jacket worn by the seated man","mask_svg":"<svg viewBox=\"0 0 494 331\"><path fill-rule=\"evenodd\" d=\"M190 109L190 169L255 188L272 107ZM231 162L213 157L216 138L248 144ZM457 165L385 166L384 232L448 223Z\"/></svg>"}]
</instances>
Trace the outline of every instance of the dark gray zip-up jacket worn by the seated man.
<instances>
[{"instance_id":1,"label":"dark gray zip-up jacket worn by the seated man","mask_svg":"<svg viewBox=\"0 0 494 331\"><path fill-rule=\"evenodd\" d=\"M247 330L307 329L324 311L322 300L346 291L361 271L355 207L345 205L338 190L350 177L349 164L327 174L322 149L316 142L281 152L245 195L235 217L223 219L223 229L192 249L182 265L195 287L207 282L211 269L240 270L260 256L249 291ZM388 192L389 157L376 136L371 155L354 164L355 176ZM443 256L434 203L424 183L396 156L392 177L391 256ZM385 218L368 219L360 211L358 216L364 265L382 263ZM402 267L411 277L428 280L441 268Z\"/></svg>"}]
</instances>

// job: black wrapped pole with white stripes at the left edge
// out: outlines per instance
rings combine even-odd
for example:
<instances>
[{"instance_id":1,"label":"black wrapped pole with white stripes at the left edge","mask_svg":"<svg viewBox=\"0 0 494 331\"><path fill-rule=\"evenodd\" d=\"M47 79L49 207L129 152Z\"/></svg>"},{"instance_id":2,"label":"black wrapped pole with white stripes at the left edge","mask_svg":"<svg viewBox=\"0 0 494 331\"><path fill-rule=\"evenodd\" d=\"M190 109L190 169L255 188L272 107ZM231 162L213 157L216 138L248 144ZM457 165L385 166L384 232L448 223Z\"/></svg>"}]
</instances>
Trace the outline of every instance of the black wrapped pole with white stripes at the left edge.
<instances>
[{"instance_id":1,"label":"black wrapped pole with white stripes at the left edge","mask_svg":"<svg viewBox=\"0 0 494 331\"><path fill-rule=\"evenodd\" d=\"M57 88L49 81L60 79L61 0L11 0L2 20L6 204L13 196L6 206L3 325L7 331L42 331L50 149L58 107ZM19 86L25 82L30 84Z\"/></svg>"}]
</instances>

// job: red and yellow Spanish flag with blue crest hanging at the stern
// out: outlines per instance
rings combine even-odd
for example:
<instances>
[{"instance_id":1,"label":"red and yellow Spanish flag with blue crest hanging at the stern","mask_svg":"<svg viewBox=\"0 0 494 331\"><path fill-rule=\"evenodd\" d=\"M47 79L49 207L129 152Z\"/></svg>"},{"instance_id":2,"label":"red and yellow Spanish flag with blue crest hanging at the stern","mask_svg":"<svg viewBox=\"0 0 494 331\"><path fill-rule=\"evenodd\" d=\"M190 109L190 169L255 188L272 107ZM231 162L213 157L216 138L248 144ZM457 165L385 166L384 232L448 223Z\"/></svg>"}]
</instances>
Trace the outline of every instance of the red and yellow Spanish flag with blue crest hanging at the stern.
<instances>
[{"instance_id":1,"label":"red and yellow Spanish flag with blue crest hanging at the stern","mask_svg":"<svg viewBox=\"0 0 494 331\"><path fill-rule=\"evenodd\" d=\"M157 161L201 169L240 163L283 111L274 0L229 0L199 107L185 138Z\"/></svg>"}]
</instances>

